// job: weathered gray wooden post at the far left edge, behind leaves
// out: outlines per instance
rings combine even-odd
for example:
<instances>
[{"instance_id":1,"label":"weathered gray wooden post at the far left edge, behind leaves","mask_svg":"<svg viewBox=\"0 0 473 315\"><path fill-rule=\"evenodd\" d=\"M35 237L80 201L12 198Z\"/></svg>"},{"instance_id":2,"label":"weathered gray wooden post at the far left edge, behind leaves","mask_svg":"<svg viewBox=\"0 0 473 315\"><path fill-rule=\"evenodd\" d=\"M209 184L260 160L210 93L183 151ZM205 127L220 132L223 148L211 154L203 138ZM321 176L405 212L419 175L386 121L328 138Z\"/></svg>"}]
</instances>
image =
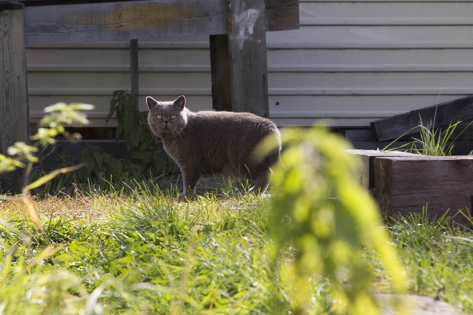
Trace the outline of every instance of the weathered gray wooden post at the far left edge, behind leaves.
<instances>
[{"instance_id":1,"label":"weathered gray wooden post at the far left edge, behind leaves","mask_svg":"<svg viewBox=\"0 0 473 315\"><path fill-rule=\"evenodd\" d=\"M26 78L23 4L0 3L0 153L15 142L29 143L30 112ZM24 170L4 173L1 192L20 193Z\"/></svg>"}]
</instances>

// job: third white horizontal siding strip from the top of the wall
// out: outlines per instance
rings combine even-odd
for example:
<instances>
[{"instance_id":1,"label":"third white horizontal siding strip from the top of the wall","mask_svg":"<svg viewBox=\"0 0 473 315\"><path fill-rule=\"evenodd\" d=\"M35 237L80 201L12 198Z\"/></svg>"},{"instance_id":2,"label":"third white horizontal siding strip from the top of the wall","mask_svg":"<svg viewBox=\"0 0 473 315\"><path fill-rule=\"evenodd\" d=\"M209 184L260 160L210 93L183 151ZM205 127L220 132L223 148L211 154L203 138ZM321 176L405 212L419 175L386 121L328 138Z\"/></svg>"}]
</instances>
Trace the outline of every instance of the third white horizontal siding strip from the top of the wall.
<instances>
[{"instance_id":1,"label":"third white horizontal siding strip from the top of the wall","mask_svg":"<svg viewBox=\"0 0 473 315\"><path fill-rule=\"evenodd\" d=\"M28 50L29 72L123 72L130 71L128 50ZM158 55L153 59L153 55ZM169 58L167 58L169 56ZM143 72L209 72L208 50L139 51L139 69ZM185 60L185 61L184 61ZM268 50L269 71L357 72L357 71L470 71L470 49L419 50ZM309 69L307 69L309 68Z\"/></svg>"}]
</instances>

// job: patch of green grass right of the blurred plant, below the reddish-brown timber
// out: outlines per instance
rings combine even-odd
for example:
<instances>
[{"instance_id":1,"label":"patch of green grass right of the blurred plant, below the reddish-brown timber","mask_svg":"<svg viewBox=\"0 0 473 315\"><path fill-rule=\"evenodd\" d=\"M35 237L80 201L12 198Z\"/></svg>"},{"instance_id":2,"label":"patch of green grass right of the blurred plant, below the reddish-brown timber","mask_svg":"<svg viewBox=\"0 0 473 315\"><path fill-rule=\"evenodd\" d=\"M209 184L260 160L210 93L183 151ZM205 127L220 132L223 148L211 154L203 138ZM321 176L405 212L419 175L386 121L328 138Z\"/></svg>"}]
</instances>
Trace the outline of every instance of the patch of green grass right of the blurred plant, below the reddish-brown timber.
<instances>
[{"instance_id":1,"label":"patch of green grass right of the blurred plant, below the reddish-brown timber","mask_svg":"<svg viewBox=\"0 0 473 315\"><path fill-rule=\"evenodd\" d=\"M433 221L427 209L401 217L389 226L393 243L404 262L409 291L445 301L464 313L473 312L473 230L453 227L456 216ZM374 252L367 259L377 277L379 291L386 290L387 276Z\"/></svg>"}]
</instances>

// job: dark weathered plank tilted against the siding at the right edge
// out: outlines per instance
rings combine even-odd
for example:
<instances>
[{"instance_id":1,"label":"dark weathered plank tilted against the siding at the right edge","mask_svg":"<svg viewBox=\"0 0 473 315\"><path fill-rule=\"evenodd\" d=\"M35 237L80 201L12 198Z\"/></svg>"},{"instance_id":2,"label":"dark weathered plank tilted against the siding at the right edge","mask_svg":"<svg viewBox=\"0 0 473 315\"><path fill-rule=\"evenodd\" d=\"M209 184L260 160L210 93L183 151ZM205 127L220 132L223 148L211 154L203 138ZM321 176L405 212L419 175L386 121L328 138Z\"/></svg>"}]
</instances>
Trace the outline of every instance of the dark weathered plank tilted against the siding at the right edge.
<instances>
[{"instance_id":1,"label":"dark weathered plank tilted against the siding at the right edge","mask_svg":"<svg viewBox=\"0 0 473 315\"><path fill-rule=\"evenodd\" d=\"M420 116L419 116L420 115ZM373 135L377 141L396 139L403 134L419 132L419 117L427 125L434 121L434 127L448 126L450 122L473 118L473 96L456 99L411 112L381 119L371 123ZM410 131L409 131L410 130Z\"/></svg>"}]
</instances>

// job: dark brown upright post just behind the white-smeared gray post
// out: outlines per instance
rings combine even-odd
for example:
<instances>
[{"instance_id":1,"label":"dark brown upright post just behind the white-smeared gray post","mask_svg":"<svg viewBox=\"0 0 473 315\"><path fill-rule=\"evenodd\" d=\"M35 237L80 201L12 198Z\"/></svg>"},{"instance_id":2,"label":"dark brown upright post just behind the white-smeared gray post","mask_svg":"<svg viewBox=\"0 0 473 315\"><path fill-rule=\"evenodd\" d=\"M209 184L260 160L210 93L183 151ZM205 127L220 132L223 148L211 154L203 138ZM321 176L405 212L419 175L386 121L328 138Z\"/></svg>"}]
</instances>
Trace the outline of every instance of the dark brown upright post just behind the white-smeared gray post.
<instances>
[{"instance_id":1,"label":"dark brown upright post just behind the white-smeared gray post","mask_svg":"<svg viewBox=\"0 0 473 315\"><path fill-rule=\"evenodd\" d=\"M210 35L210 68L212 73L212 108L232 111L230 51L227 34Z\"/></svg>"}]
</instances>

